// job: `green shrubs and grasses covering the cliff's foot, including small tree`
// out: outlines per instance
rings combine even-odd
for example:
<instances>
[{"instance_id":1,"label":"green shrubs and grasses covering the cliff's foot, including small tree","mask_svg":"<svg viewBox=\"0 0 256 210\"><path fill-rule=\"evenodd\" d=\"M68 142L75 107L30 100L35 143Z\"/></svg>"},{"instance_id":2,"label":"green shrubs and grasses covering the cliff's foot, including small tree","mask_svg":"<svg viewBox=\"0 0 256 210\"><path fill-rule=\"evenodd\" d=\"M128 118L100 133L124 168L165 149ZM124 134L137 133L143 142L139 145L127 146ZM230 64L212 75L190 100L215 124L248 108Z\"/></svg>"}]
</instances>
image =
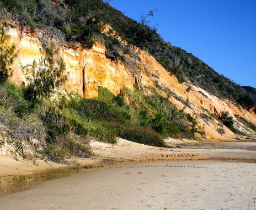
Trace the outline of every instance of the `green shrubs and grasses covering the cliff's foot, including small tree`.
<instances>
[{"instance_id":1,"label":"green shrubs and grasses covering the cliff's foot, including small tree","mask_svg":"<svg viewBox=\"0 0 256 210\"><path fill-rule=\"evenodd\" d=\"M3 27L3 36L5 31ZM2 48L7 53L11 51L8 44ZM10 83L7 78L11 74L6 74L6 80L0 83L0 122L18 144L21 140L37 139L45 148L42 154L61 161L71 155L90 155L88 137L109 143L122 137L164 147L164 136L194 136L196 124L190 128L192 116L178 110L155 89L144 95L135 86L134 92L123 89L122 94L115 96L99 87L97 99L84 99L74 93L57 94L56 89L67 78L63 74L65 65L62 58L56 57L58 50L53 44L44 46L44 50L45 57L23 69L27 86ZM10 66L6 64L11 70ZM134 103L126 104L125 96Z\"/></svg>"}]
</instances>

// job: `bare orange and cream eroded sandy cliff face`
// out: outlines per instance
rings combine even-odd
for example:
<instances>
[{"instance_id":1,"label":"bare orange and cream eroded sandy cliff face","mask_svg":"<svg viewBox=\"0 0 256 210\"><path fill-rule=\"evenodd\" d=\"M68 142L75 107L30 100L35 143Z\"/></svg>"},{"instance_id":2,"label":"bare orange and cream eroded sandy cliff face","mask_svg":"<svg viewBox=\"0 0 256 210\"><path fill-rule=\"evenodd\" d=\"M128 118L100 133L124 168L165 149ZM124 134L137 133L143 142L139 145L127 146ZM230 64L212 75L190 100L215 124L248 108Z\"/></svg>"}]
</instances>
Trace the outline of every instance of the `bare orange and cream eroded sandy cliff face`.
<instances>
[{"instance_id":1,"label":"bare orange and cream eroded sandy cliff face","mask_svg":"<svg viewBox=\"0 0 256 210\"><path fill-rule=\"evenodd\" d=\"M13 77L16 84L27 84L23 67L29 68L34 60L38 61L43 56L43 47L40 42L40 32L21 30L11 26L8 33L10 42L16 43L18 57L13 65ZM138 58L126 56L125 62L113 62L106 58L105 47L100 42L86 49L79 43L65 43L59 46L59 54L66 63L68 80L59 89L60 92L75 92L85 98L97 97L97 88L105 87L114 94L119 94L123 87L133 90L133 84L146 90L148 86L155 87L163 96L174 103L178 109L192 114L198 125L206 132L208 140L227 140L235 138L235 134L223 127L225 134L221 135L216 130L222 128L215 119L203 117L208 112L218 115L221 111L229 111L232 115L239 115L256 124L256 115L235 105L229 100L222 100L208 94L205 90L192 84L180 84L175 76L171 75L155 58L142 51ZM199 92L200 91L200 92ZM145 91L147 92L147 91ZM203 94L202 94L203 93ZM208 110L208 112L206 111ZM236 121L240 130L253 134L240 122Z\"/></svg>"}]
</instances>

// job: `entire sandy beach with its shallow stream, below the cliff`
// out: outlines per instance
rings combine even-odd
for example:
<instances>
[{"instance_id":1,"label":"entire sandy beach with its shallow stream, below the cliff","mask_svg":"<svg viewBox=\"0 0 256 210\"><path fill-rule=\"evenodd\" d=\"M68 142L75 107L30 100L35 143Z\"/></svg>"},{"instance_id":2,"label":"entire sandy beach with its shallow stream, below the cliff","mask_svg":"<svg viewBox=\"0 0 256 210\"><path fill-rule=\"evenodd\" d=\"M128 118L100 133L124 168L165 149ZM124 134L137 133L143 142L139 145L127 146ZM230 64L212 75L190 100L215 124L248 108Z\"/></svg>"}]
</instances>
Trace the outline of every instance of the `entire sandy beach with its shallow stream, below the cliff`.
<instances>
[{"instance_id":1,"label":"entire sandy beach with its shallow stream, below the cliff","mask_svg":"<svg viewBox=\"0 0 256 210\"><path fill-rule=\"evenodd\" d=\"M0 209L256 209L256 142L171 143L92 141L93 157L67 160L104 168L0 157Z\"/></svg>"}]
</instances>

